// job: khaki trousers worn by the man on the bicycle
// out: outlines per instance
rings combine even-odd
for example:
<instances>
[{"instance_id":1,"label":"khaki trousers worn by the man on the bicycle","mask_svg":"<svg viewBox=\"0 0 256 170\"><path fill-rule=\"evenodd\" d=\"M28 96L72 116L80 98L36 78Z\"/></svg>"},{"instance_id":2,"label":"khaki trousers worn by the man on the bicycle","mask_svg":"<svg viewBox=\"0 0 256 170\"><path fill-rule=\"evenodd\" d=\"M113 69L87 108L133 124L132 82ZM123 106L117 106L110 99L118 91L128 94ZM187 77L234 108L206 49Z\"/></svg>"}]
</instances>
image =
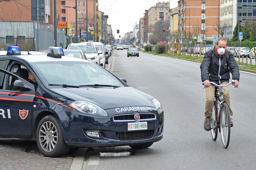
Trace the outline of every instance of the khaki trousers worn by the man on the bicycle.
<instances>
[{"instance_id":1,"label":"khaki trousers worn by the man on the bicycle","mask_svg":"<svg viewBox=\"0 0 256 170\"><path fill-rule=\"evenodd\" d=\"M221 85L227 84L228 82L223 82ZM233 112L230 108L230 96L229 96L229 86L222 87L225 88L224 92L224 101L227 103L227 106L229 107L229 115L233 116ZM219 88L220 89L220 88ZM212 108L214 104L214 91L215 91L215 86L210 85L210 87L205 88L206 91L206 102L205 102L205 112L204 116L206 117L211 117L212 115Z\"/></svg>"}]
</instances>

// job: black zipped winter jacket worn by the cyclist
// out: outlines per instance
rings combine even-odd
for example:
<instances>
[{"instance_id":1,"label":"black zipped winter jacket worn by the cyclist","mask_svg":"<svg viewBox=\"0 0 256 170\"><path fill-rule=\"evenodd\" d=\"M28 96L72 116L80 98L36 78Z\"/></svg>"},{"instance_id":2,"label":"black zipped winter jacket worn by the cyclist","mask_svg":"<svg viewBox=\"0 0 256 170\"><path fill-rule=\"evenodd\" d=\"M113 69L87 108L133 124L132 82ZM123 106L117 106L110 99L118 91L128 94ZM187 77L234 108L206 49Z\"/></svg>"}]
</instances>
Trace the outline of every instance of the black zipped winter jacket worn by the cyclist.
<instances>
[{"instance_id":1,"label":"black zipped winter jacket worn by the cyclist","mask_svg":"<svg viewBox=\"0 0 256 170\"><path fill-rule=\"evenodd\" d=\"M205 80L209 80L210 82L217 84L229 82L230 72L232 74L232 79L239 81L240 73L234 56L230 51L226 52L229 55L229 59L227 61L225 53L219 56L215 51L215 47L206 52L203 62L200 65L202 82ZM214 54L213 57L212 53Z\"/></svg>"}]
</instances>

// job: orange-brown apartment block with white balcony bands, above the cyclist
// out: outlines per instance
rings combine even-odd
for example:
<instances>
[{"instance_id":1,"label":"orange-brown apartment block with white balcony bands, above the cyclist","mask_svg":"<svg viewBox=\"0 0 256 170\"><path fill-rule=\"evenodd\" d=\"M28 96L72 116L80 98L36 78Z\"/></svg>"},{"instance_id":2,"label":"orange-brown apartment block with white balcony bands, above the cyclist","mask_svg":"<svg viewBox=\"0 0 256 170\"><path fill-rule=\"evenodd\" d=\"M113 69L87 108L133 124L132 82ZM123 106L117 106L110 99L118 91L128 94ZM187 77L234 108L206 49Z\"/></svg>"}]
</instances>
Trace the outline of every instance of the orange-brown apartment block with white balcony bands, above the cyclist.
<instances>
[{"instance_id":1,"label":"orange-brown apartment block with white balcony bands, above the cyclist","mask_svg":"<svg viewBox=\"0 0 256 170\"><path fill-rule=\"evenodd\" d=\"M179 0L178 31L198 40L218 37L220 0Z\"/></svg>"}]
</instances>

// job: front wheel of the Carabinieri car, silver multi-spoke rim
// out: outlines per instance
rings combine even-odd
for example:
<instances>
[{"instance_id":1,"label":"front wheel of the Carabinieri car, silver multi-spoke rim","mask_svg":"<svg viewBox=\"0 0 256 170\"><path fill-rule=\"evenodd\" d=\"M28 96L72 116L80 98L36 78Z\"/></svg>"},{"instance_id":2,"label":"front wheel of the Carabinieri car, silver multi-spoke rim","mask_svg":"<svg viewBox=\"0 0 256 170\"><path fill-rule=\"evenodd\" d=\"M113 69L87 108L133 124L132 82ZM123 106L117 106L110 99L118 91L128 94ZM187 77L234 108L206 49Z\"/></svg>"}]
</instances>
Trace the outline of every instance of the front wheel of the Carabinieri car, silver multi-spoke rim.
<instances>
[{"instance_id":1,"label":"front wheel of the Carabinieri car, silver multi-spoke rim","mask_svg":"<svg viewBox=\"0 0 256 170\"><path fill-rule=\"evenodd\" d=\"M37 146L46 157L61 157L68 153L60 123L53 115L47 115L37 126Z\"/></svg>"}]
</instances>

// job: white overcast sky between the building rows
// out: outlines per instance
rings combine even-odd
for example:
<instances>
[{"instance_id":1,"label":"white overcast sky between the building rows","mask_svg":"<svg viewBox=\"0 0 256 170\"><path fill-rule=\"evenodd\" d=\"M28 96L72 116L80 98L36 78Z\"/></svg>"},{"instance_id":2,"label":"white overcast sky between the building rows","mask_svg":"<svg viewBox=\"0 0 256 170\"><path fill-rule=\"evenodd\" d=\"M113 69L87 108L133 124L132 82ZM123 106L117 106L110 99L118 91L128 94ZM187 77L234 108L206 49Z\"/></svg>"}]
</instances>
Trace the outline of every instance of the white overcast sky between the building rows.
<instances>
[{"instance_id":1,"label":"white overcast sky between the building rows","mask_svg":"<svg viewBox=\"0 0 256 170\"><path fill-rule=\"evenodd\" d=\"M170 0L170 8L178 6L178 0ZM139 24L139 18L144 16L145 10L155 6L159 0L98 0L99 11L108 15L108 24L112 25L113 35L116 39L133 31L133 25ZM164 1L167 3L167 0ZM120 33L117 34L117 29Z\"/></svg>"}]
</instances>

